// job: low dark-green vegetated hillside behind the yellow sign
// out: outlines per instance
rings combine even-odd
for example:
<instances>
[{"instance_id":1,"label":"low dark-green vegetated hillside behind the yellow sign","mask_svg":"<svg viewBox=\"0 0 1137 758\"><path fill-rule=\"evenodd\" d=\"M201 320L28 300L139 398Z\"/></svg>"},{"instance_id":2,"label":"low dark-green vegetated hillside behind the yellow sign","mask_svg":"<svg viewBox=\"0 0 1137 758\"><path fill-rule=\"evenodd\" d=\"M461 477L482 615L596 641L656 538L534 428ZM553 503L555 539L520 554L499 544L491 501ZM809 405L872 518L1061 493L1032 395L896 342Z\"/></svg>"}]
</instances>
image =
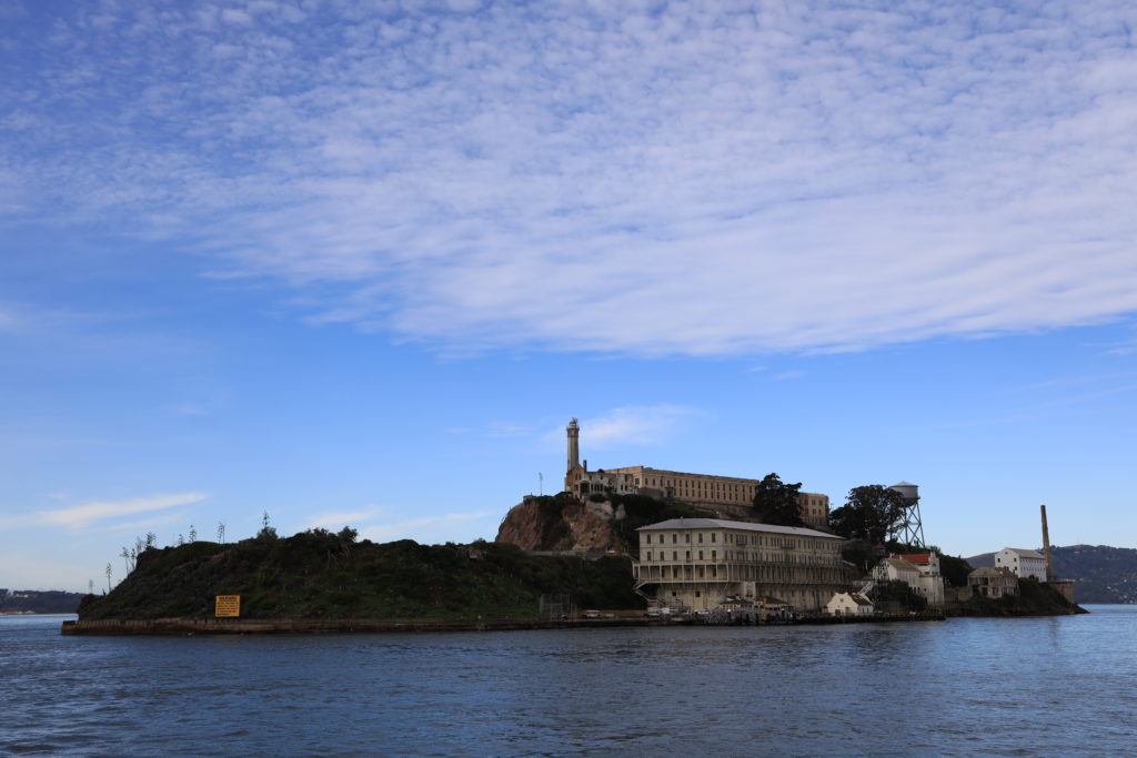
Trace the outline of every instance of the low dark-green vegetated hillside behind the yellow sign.
<instances>
[{"instance_id":1,"label":"low dark-green vegetated hillside behind the yellow sign","mask_svg":"<svg viewBox=\"0 0 1137 758\"><path fill-rule=\"evenodd\" d=\"M580 608L640 608L625 557L547 558L514 545L354 542L322 530L235 544L193 542L144 551L83 620L207 618L217 594L241 595L244 618L465 618L536 616L543 593Z\"/></svg>"}]
</instances>

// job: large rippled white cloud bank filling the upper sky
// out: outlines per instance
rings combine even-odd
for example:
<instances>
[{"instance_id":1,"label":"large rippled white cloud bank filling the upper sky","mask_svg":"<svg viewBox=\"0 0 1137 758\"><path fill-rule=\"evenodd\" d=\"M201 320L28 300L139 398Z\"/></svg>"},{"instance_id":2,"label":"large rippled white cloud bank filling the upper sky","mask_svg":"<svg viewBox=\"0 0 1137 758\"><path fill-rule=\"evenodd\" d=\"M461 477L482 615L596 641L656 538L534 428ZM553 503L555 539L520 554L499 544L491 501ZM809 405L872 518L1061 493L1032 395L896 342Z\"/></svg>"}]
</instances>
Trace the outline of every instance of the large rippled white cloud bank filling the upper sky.
<instances>
[{"instance_id":1,"label":"large rippled white cloud bank filling the upper sky","mask_svg":"<svg viewBox=\"0 0 1137 758\"><path fill-rule=\"evenodd\" d=\"M1124 3L1059 5L32 8L0 164L19 218L451 351L1101 323L1137 310L1137 51Z\"/></svg>"}]
</instances>

